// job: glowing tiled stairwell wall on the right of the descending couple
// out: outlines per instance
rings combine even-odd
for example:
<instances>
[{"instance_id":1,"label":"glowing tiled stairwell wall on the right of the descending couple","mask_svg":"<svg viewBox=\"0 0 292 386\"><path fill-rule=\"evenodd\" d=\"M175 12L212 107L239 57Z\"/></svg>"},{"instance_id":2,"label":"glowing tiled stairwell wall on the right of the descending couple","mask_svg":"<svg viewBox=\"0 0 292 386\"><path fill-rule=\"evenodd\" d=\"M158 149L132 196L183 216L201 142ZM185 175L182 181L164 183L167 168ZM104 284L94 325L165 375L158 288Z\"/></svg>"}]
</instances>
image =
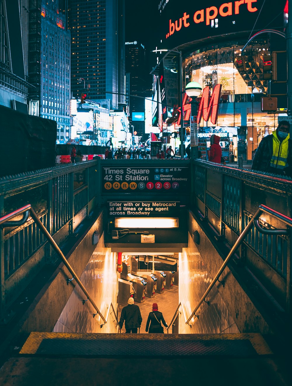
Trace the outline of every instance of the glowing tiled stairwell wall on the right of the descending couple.
<instances>
[{"instance_id":1,"label":"glowing tiled stairwell wall on the right of the descending couple","mask_svg":"<svg viewBox=\"0 0 292 386\"><path fill-rule=\"evenodd\" d=\"M179 254L179 301L182 303L179 315L179 334L219 334L240 332L235 321L218 293L216 284L207 296L210 305L203 303L197 315L186 324L197 303L203 296L211 278L203 257L189 234L189 247Z\"/></svg>"}]
</instances>

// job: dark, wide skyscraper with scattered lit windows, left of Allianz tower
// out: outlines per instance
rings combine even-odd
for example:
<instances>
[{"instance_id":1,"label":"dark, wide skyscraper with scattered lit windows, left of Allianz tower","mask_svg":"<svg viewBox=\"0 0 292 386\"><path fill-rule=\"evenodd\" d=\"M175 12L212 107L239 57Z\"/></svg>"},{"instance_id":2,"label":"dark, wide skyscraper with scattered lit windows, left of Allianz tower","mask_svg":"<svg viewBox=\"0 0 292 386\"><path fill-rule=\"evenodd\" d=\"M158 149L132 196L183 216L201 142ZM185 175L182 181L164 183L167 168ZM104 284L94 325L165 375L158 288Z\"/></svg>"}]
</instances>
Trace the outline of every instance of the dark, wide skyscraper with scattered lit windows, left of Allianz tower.
<instances>
[{"instance_id":1,"label":"dark, wide skyscraper with scattered lit windows, left of Allianz tower","mask_svg":"<svg viewBox=\"0 0 292 386\"><path fill-rule=\"evenodd\" d=\"M86 99L125 101L125 0L70 0L71 90Z\"/></svg>"}]
</instances>

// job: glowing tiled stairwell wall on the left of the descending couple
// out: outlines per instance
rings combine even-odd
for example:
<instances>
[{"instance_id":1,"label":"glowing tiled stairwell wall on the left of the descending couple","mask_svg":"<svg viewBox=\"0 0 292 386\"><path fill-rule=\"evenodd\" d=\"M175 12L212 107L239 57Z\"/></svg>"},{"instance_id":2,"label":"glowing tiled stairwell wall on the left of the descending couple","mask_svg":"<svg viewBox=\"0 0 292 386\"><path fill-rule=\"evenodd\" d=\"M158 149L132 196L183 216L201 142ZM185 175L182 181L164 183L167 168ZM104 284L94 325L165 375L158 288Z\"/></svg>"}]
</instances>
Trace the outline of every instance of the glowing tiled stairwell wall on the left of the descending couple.
<instances>
[{"instance_id":1,"label":"glowing tiled stairwell wall on the left of the descending couple","mask_svg":"<svg viewBox=\"0 0 292 386\"><path fill-rule=\"evenodd\" d=\"M118 293L116 253L111 253L110 249L104 247L103 237L101 237L80 280L89 295L93 298L103 317L106 318L108 307L111 303L116 312ZM76 284L72 295L54 327L54 332L115 333L118 331L112 310L110 310L107 323L101 328L100 325L103 321L99 315L93 318L92 314L95 313L93 306L89 301L86 301L83 305L83 299L86 299L85 295L78 284Z\"/></svg>"}]
</instances>

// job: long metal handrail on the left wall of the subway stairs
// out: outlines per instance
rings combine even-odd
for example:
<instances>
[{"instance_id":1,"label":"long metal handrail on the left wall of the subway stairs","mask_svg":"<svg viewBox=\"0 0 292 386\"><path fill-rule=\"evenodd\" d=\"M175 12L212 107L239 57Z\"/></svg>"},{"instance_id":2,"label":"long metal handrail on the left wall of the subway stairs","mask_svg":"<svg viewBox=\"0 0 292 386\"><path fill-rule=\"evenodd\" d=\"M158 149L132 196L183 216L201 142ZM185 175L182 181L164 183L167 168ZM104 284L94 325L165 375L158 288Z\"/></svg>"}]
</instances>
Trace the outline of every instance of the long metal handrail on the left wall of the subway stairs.
<instances>
[{"instance_id":1,"label":"long metal handrail on the left wall of the subway stairs","mask_svg":"<svg viewBox=\"0 0 292 386\"><path fill-rule=\"evenodd\" d=\"M54 251L59 255L59 257L61 258L61 260L63 261L64 265L66 266L66 268L68 269L68 271L71 273L72 275L72 279L68 279L67 280L67 283L69 283L70 281L72 281L73 279L76 280L76 282L78 283L79 287L82 289L84 295L87 297L86 300L83 300L83 304L89 300L89 303L91 303L91 305L93 306L93 308L95 308L96 310L96 313L93 314L93 317L95 317L96 315L100 315L101 319L103 320L103 324L101 325L101 327L106 323L106 320L105 318L103 317L103 315L101 314L100 310L97 308L97 306L95 305L95 302L92 300L91 296L89 295L89 293L87 292L86 288L84 287L84 285L81 283L80 279L78 278L78 276L76 275L76 273L74 272L74 269L71 267L71 265L69 264L68 260L66 259L66 257L64 256L64 254L62 253L61 249L58 247L58 245L56 244L56 242L54 241L54 239L52 238L52 236L49 234L49 232L47 231L46 227L43 225L43 223L41 222L41 220L39 219L39 217L37 216L37 214L35 213L34 209L32 208L32 206L30 204L28 205L25 205L24 207L21 207L17 210L15 210L14 212L11 212L9 213L8 215L5 215L3 217L0 217L0 225L2 225L2 227L7 227L7 226L15 226L15 225L11 225L11 223L15 223L15 222L9 222L9 220L13 217L15 217L16 215L19 215L21 213L24 213L24 212L28 212L30 211L30 216L33 218L33 220L35 221L35 223L37 225L39 225L42 233L44 234L44 236L47 238L48 242L51 244L52 248L54 249ZM25 217L25 216L24 216ZM23 221L24 219L22 219ZM8 224L8 225L7 225Z\"/></svg>"}]
</instances>

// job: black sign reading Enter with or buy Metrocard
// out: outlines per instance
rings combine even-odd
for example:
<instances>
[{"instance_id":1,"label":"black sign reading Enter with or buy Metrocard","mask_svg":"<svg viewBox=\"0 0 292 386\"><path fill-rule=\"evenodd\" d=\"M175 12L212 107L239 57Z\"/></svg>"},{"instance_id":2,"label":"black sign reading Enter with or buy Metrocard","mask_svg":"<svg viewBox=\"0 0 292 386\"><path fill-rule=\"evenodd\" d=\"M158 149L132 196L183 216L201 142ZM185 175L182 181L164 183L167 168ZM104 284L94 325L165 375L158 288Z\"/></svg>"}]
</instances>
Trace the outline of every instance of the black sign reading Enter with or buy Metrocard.
<instances>
[{"instance_id":1,"label":"black sign reading Enter with or buy Metrocard","mask_svg":"<svg viewBox=\"0 0 292 386\"><path fill-rule=\"evenodd\" d=\"M108 201L109 217L178 217L179 201Z\"/></svg>"}]
</instances>

